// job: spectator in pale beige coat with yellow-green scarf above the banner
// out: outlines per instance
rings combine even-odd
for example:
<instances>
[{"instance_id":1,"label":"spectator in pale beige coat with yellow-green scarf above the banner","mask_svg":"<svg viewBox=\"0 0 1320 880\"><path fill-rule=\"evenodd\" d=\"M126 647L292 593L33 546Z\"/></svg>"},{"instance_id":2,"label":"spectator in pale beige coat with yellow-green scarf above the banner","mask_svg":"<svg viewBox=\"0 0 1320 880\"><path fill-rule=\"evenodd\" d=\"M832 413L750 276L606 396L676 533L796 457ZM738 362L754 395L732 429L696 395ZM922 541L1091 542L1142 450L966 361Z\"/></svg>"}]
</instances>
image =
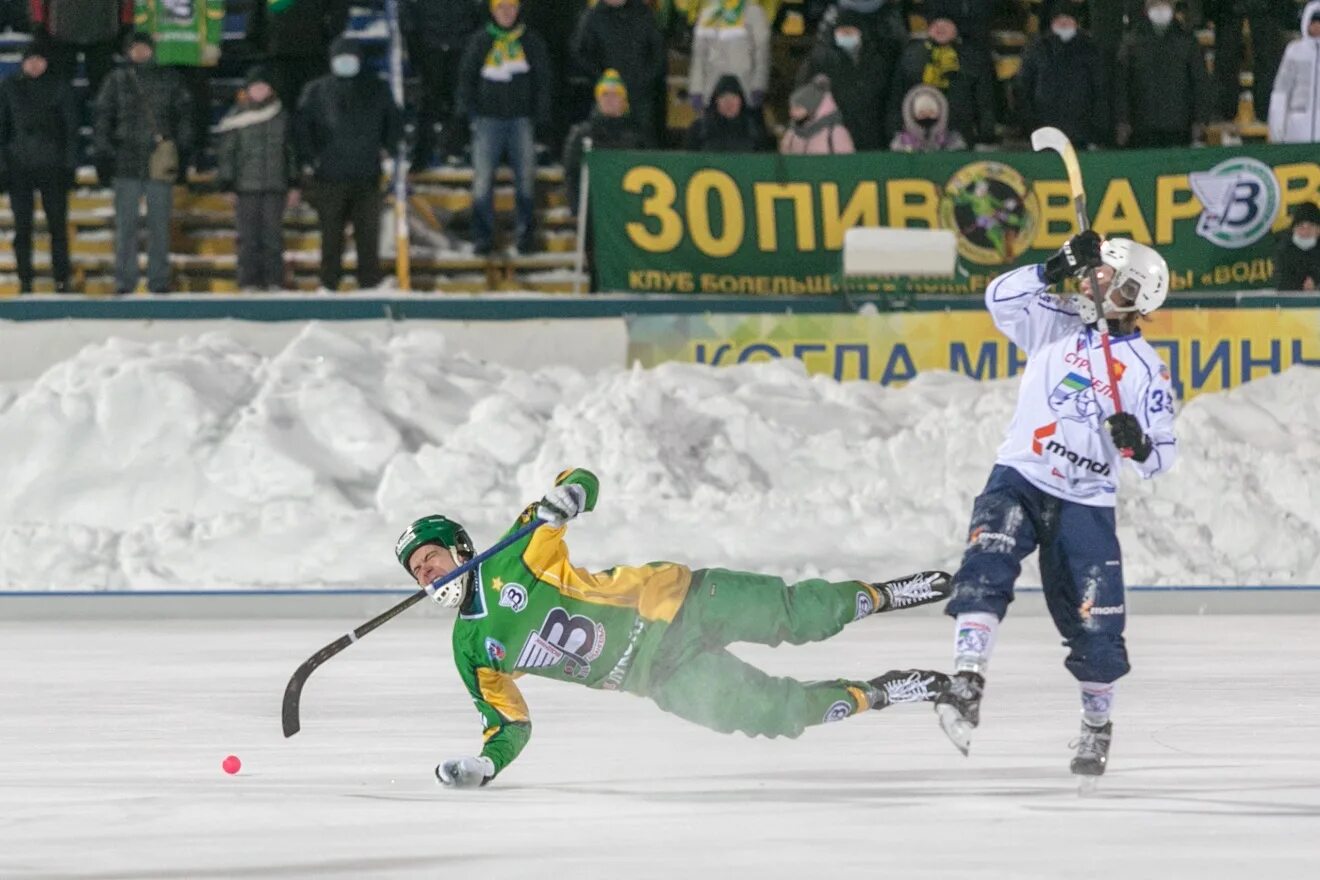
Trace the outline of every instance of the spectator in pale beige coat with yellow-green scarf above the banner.
<instances>
[{"instance_id":1,"label":"spectator in pale beige coat with yellow-green scarf above the banner","mask_svg":"<svg viewBox=\"0 0 1320 880\"><path fill-rule=\"evenodd\" d=\"M770 86L770 21L752 0L705 0L692 34L688 94L698 113L714 84L733 74L752 110Z\"/></svg>"}]
</instances>

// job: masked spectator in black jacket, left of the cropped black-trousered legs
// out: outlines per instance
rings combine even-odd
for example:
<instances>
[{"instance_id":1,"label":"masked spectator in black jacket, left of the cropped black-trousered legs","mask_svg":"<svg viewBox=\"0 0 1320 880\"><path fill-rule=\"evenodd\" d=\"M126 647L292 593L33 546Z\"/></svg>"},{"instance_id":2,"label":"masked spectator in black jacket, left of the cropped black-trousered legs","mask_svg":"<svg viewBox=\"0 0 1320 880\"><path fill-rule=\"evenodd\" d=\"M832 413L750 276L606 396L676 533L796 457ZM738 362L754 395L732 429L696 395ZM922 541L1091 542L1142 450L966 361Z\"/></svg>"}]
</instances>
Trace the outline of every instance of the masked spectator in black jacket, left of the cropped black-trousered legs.
<instances>
[{"instance_id":1,"label":"masked spectator in black jacket, left of the cropped black-trousered legs","mask_svg":"<svg viewBox=\"0 0 1320 880\"><path fill-rule=\"evenodd\" d=\"M1173 18L1171 0L1146 0L1146 18L1123 37L1114 104L1119 146L1187 146L1205 137L1205 55L1196 36Z\"/></svg>"}]
</instances>

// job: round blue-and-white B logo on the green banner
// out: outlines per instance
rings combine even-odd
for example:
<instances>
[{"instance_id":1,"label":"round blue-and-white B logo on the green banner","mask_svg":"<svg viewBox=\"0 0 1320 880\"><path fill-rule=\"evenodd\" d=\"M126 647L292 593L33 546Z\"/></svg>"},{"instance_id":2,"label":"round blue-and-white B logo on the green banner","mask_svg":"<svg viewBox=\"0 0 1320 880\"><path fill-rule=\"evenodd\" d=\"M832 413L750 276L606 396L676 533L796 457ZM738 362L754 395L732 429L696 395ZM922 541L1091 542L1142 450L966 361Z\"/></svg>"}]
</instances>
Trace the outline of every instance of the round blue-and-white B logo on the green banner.
<instances>
[{"instance_id":1,"label":"round blue-and-white B logo on the green banner","mask_svg":"<svg viewBox=\"0 0 1320 880\"><path fill-rule=\"evenodd\" d=\"M1221 248L1259 241L1279 214L1279 181L1259 160L1225 160L1208 172L1193 172L1188 181L1203 206L1196 234Z\"/></svg>"}]
</instances>

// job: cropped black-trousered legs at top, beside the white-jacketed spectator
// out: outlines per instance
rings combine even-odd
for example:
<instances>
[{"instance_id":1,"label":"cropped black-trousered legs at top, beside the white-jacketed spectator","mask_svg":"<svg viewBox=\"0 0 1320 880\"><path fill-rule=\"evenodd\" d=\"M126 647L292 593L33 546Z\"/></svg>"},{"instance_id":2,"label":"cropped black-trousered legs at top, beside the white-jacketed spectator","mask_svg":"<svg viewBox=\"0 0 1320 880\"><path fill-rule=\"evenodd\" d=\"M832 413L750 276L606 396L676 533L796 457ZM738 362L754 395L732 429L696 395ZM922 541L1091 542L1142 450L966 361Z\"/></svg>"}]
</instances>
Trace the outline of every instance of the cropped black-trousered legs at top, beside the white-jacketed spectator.
<instances>
[{"instance_id":1,"label":"cropped black-trousered legs at top, beside the white-jacketed spectator","mask_svg":"<svg viewBox=\"0 0 1320 880\"><path fill-rule=\"evenodd\" d=\"M1251 102L1257 113L1266 112L1274 74L1283 57L1284 17L1296 12L1292 0L1218 0L1214 11L1214 79L1218 82L1221 119L1237 116L1242 91L1238 74L1242 69L1242 24L1251 26Z\"/></svg>"}]
</instances>

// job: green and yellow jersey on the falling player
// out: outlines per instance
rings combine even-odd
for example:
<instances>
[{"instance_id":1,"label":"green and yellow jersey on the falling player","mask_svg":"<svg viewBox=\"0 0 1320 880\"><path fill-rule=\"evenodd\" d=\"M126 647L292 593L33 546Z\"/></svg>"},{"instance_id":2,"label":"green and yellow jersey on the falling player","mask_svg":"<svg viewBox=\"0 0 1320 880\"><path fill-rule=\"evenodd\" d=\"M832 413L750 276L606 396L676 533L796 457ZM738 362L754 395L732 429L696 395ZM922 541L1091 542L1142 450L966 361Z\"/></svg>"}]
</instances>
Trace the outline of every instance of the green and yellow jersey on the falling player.
<instances>
[{"instance_id":1,"label":"green and yellow jersey on the falling player","mask_svg":"<svg viewBox=\"0 0 1320 880\"><path fill-rule=\"evenodd\" d=\"M556 484L586 491L585 470ZM533 521L529 505L515 530ZM565 526L543 525L483 562L454 623L454 664L482 715L482 755L498 773L531 736L531 715L513 679L523 674L587 687L642 691L652 648L686 599L692 571L673 562L586 571L569 561Z\"/></svg>"}]
</instances>

